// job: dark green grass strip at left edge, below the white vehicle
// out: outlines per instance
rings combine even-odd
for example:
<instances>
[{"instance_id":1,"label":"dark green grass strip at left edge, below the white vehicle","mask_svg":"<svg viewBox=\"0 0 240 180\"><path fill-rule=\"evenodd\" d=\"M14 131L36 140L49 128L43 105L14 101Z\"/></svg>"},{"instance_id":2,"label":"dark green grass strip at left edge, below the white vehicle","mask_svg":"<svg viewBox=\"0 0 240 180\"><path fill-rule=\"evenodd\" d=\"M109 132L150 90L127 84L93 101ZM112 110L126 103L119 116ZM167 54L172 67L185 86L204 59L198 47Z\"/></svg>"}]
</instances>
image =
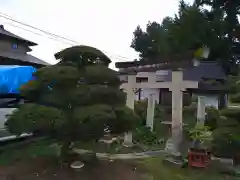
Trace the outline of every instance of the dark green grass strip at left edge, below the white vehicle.
<instances>
[{"instance_id":1,"label":"dark green grass strip at left edge, below the white vehicle","mask_svg":"<svg viewBox=\"0 0 240 180\"><path fill-rule=\"evenodd\" d=\"M39 140L21 147L9 144L0 151L0 165L7 165L23 159L39 156L56 156L57 151L51 144L53 140Z\"/></svg>"}]
</instances>

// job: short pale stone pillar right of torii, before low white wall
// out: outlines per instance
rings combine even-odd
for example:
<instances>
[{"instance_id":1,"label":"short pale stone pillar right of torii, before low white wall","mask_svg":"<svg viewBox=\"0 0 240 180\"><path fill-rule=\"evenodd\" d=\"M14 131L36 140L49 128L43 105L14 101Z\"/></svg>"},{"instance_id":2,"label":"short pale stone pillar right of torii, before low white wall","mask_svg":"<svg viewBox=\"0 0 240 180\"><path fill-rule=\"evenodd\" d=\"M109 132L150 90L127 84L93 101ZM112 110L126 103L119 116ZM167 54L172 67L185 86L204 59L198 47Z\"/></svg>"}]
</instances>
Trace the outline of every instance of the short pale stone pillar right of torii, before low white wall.
<instances>
[{"instance_id":1,"label":"short pale stone pillar right of torii, before low white wall","mask_svg":"<svg viewBox=\"0 0 240 180\"><path fill-rule=\"evenodd\" d=\"M203 96L198 96L197 100L197 123L205 124L205 98Z\"/></svg>"}]
</instances>

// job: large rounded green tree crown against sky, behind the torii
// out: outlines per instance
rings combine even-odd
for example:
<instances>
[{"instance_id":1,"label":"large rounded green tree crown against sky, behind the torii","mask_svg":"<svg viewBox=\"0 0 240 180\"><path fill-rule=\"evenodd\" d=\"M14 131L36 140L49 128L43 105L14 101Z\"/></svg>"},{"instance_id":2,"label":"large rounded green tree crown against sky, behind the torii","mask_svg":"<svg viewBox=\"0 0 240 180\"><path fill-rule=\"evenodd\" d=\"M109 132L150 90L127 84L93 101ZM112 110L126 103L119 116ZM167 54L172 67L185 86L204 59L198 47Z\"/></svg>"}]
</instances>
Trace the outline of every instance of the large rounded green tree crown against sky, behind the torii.
<instances>
[{"instance_id":1,"label":"large rounded green tree crown against sky, behind the torii","mask_svg":"<svg viewBox=\"0 0 240 180\"><path fill-rule=\"evenodd\" d=\"M146 32L138 26L131 47L140 53L141 60L166 61L174 54L183 55L208 45L212 36L205 15L196 6L181 1L174 18L166 17L161 24L149 22Z\"/></svg>"}]
</instances>

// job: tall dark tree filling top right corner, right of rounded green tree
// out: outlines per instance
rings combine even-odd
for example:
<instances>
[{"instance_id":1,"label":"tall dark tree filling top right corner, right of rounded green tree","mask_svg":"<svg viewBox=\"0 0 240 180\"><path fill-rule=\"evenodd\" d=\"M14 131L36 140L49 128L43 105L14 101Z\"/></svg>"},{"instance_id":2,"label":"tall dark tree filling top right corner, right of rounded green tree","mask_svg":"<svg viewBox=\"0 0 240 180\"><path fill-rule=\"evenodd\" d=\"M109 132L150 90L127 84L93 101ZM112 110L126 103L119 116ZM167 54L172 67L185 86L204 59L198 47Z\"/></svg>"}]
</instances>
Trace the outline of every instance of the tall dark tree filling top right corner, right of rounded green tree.
<instances>
[{"instance_id":1,"label":"tall dark tree filling top right corner, right of rounded green tree","mask_svg":"<svg viewBox=\"0 0 240 180\"><path fill-rule=\"evenodd\" d=\"M218 34L217 43L212 45L212 58L220 60L228 73L237 72L236 63L240 55L239 31L240 1L238 0L195 0L198 7L210 7L208 21ZM222 53L220 53L222 52Z\"/></svg>"}]
</instances>

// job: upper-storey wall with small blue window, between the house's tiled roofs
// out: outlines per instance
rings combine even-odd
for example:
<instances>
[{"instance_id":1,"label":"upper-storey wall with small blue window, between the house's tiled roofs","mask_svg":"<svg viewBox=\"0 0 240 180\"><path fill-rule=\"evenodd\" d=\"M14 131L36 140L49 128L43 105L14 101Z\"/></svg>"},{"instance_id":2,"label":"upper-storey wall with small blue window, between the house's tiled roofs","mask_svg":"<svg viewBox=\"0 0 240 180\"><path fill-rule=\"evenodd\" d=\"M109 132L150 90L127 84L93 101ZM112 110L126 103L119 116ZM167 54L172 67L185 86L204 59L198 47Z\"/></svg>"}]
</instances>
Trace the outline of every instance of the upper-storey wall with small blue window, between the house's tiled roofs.
<instances>
[{"instance_id":1,"label":"upper-storey wall with small blue window, between the house's tiled roofs","mask_svg":"<svg viewBox=\"0 0 240 180\"><path fill-rule=\"evenodd\" d=\"M17 44L17 48L14 49L12 47L12 45L14 44L15 42L12 42L12 41L7 41L7 40L0 40L0 51L4 51L4 52L15 52L15 53L24 53L26 54L27 52L29 52L29 48L28 46L24 46L22 44Z\"/></svg>"}]
</instances>

